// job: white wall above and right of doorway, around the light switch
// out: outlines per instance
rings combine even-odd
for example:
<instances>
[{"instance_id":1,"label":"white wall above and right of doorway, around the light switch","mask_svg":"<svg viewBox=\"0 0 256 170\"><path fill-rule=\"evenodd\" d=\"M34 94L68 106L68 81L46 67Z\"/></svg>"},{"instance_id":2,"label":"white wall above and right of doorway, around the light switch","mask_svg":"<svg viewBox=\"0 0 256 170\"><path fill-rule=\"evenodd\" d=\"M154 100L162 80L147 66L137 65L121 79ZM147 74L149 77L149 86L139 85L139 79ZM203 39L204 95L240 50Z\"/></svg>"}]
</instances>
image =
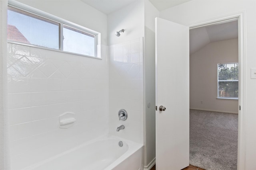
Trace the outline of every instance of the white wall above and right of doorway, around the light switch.
<instances>
[{"instance_id":1,"label":"white wall above and right of doorway, around the light switch","mask_svg":"<svg viewBox=\"0 0 256 170\"><path fill-rule=\"evenodd\" d=\"M256 2L255 1L215 1L215 0L198 0L190 1L179 6L169 8L160 12L160 17L166 20L174 21L183 25L192 25L202 23L203 21L223 17L237 12L245 12L245 103L243 127L246 132L242 136L242 150L245 150L245 160L239 162L240 169L251 170L255 168L256 162L256 79L250 78L250 68L256 67ZM242 116L242 115L241 115ZM245 147L243 147L245 146ZM245 164L243 164L245 162Z\"/></svg>"}]
</instances>

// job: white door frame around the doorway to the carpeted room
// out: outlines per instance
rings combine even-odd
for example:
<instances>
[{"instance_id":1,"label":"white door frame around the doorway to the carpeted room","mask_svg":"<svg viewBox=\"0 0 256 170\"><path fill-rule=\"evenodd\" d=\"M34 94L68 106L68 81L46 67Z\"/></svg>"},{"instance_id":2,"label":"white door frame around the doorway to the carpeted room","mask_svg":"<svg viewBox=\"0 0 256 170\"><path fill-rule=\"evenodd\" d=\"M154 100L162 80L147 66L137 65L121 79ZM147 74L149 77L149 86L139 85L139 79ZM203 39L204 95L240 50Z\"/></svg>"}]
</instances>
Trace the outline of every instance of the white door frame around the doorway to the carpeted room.
<instances>
[{"instance_id":1,"label":"white door frame around the doorway to the carpeted room","mask_svg":"<svg viewBox=\"0 0 256 170\"><path fill-rule=\"evenodd\" d=\"M245 12L238 12L209 20L200 21L189 25L189 29L214 25L229 21L238 20L238 63L239 63L239 82L238 82L238 159L237 169L245 169L245 68L246 68L246 46L245 46Z\"/></svg>"}]
</instances>

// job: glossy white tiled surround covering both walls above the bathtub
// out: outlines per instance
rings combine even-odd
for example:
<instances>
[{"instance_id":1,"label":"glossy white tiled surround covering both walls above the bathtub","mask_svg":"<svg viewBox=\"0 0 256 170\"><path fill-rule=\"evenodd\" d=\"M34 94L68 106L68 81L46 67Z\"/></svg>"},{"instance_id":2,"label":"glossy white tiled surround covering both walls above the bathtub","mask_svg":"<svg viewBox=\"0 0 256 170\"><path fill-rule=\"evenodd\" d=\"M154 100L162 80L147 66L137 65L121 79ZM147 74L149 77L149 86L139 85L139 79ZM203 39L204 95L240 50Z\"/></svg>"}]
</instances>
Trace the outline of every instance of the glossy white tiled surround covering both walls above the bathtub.
<instances>
[{"instance_id":1,"label":"glossy white tiled surround covering both walls above the bathtub","mask_svg":"<svg viewBox=\"0 0 256 170\"><path fill-rule=\"evenodd\" d=\"M102 59L93 59L8 43L12 170L106 134L144 143L143 38L108 50L107 62L104 45ZM120 109L126 121L119 121ZM60 129L65 112L76 122ZM120 125L125 129L117 132Z\"/></svg>"}]
</instances>

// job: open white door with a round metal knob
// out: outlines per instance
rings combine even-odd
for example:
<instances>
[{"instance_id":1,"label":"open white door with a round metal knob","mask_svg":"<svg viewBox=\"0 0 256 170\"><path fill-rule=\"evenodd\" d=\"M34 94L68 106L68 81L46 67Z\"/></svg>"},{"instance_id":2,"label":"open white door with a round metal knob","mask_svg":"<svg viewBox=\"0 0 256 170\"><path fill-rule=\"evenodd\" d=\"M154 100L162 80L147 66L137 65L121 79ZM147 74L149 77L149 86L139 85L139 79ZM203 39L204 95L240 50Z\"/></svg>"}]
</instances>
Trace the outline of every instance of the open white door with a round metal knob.
<instances>
[{"instance_id":1,"label":"open white door with a round metal knob","mask_svg":"<svg viewBox=\"0 0 256 170\"><path fill-rule=\"evenodd\" d=\"M161 18L156 18L156 106L156 170L189 166L189 27Z\"/></svg>"}]
</instances>

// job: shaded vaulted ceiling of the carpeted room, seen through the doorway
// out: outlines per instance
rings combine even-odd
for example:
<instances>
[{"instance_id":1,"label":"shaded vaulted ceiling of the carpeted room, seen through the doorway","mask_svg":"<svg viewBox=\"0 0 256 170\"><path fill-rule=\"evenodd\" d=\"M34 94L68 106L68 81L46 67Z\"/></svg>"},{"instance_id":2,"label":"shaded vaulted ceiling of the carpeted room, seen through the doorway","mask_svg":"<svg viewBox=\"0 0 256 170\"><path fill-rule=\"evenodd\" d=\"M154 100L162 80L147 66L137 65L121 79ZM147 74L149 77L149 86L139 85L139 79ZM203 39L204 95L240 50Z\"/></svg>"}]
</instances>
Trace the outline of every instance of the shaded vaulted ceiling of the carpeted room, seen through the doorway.
<instances>
[{"instance_id":1,"label":"shaded vaulted ceiling of the carpeted room, seen through the doorway","mask_svg":"<svg viewBox=\"0 0 256 170\"><path fill-rule=\"evenodd\" d=\"M209 43L235 38L238 38L238 21L190 29L190 54Z\"/></svg>"}]
</instances>

